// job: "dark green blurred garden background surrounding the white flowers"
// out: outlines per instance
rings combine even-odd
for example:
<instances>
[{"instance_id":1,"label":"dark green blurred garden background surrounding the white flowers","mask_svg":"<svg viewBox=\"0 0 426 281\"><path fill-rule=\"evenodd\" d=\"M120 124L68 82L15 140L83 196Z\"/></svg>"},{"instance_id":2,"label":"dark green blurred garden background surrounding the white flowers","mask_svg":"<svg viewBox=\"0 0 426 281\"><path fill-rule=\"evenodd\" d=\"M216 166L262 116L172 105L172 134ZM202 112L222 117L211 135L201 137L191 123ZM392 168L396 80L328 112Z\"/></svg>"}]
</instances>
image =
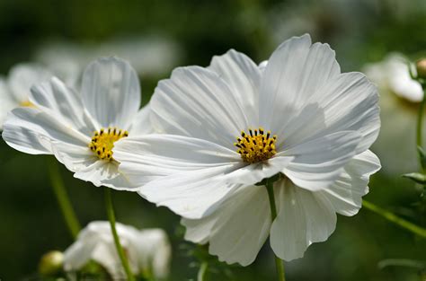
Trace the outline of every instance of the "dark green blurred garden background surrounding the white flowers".
<instances>
[{"instance_id":1,"label":"dark green blurred garden background surrounding the white flowers","mask_svg":"<svg viewBox=\"0 0 426 281\"><path fill-rule=\"evenodd\" d=\"M310 33L336 50L342 71L359 71L398 51L413 60L426 51L426 1L0 1L0 74L36 61L79 71L90 59L118 55L137 68L146 103L155 84L175 66L208 66L229 48L254 61L267 59L291 36ZM373 151L383 170L372 177L366 198L426 226L421 190L401 178L415 171L417 104L381 92L383 129ZM1 101L0 101L1 102ZM49 156L21 154L0 141L0 279L35 280L40 256L72 242L49 184ZM61 167L82 224L106 219L103 190ZM179 217L137 194L113 192L118 220L140 228L162 227L173 242L170 280L194 280L198 259L188 256ZM328 241L305 258L286 263L288 280L422 280L418 270L379 268L386 259L426 259L426 241L363 208L338 217ZM269 244L247 268L221 265L209 280L275 280Z\"/></svg>"}]
</instances>

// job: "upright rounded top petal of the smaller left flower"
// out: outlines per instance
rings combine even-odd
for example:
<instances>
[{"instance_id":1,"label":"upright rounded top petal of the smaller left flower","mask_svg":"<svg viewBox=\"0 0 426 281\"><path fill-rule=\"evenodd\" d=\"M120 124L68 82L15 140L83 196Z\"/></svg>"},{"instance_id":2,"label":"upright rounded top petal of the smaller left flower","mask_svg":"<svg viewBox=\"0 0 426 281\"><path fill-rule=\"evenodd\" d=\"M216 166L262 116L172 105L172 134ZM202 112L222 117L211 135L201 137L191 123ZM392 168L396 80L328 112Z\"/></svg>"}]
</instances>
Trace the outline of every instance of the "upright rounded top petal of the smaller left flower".
<instances>
[{"instance_id":1,"label":"upright rounded top petal of the smaller left flower","mask_svg":"<svg viewBox=\"0 0 426 281\"><path fill-rule=\"evenodd\" d=\"M84 70L84 106L101 127L128 129L138 112L140 94L138 74L124 60L102 57Z\"/></svg>"}]
</instances>

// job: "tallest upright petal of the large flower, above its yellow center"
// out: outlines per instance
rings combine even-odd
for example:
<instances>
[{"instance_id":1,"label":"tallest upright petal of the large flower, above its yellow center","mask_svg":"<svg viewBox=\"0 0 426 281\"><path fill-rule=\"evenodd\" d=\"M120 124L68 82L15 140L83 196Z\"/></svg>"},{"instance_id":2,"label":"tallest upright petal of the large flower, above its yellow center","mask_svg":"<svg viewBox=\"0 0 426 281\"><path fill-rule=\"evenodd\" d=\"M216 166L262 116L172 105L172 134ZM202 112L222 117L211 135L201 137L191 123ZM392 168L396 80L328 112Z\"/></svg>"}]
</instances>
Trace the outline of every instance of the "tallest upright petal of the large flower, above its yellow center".
<instances>
[{"instance_id":1,"label":"tallest upright petal of the large flower, above its yellow center","mask_svg":"<svg viewBox=\"0 0 426 281\"><path fill-rule=\"evenodd\" d=\"M311 45L307 34L286 40L273 52L262 75L260 123L278 134L318 88L339 74L335 53L327 44Z\"/></svg>"}]
</instances>

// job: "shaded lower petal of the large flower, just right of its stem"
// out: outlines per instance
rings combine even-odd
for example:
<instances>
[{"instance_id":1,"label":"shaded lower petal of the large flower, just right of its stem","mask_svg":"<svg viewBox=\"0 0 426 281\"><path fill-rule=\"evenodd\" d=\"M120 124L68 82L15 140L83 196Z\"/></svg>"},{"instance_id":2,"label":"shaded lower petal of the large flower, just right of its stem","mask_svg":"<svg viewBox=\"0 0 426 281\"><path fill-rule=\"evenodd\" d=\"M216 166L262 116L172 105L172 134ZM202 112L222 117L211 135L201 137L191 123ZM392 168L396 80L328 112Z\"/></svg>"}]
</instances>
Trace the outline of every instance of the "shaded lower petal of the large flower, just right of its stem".
<instances>
[{"instance_id":1,"label":"shaded lower petal of the large flower, just right of its stem","mask_svg":"<svg viewBox=\"0 0 426 281\"><path fill-rule=\"evenodd\" d=\"M271 248L284 260L301 258L307 247L333 233L336 215L322 194L300 189L290 180L275 183L279 215L271 226Z\"/></svg>"}]
</instances>

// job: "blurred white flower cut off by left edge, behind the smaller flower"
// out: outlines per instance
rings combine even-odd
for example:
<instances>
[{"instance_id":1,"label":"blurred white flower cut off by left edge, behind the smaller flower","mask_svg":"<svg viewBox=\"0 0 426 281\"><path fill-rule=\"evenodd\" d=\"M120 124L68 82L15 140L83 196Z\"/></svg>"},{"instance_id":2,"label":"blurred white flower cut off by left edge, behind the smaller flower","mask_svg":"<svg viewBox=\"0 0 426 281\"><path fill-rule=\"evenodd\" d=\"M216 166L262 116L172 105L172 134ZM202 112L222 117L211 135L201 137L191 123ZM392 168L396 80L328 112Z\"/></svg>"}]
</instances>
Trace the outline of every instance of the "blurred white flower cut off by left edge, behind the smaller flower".
<instances>
[{"instance_id":1,"label":"blurred white flower cut off by left edge, behind the smaller flower","mask_svg":"<svg viewBox=\"0 0 426 281\"><path fill-rule=\"evenodd\" d=\"M46 81L51 76L49 70L43 66L19 64L12 67L7 78L0 78L0 129L10 110L31 106L29 101L31 86Z\"/></svg>"}]
</instances>

